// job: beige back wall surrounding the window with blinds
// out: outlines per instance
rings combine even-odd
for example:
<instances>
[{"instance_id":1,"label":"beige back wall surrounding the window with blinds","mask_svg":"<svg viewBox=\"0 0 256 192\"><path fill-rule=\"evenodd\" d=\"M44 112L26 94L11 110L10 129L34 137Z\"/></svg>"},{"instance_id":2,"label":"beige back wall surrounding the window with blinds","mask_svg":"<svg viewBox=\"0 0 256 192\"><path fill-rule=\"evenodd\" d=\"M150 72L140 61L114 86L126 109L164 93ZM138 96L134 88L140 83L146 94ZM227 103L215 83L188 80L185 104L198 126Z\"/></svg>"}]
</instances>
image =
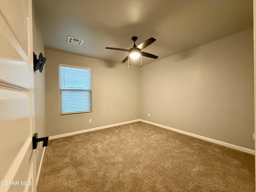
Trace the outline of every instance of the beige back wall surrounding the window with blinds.
<instances>
[{"instance_id":1,"label":"beige back wall surrounding the window with blinds","mask_svg":"<svg viewBox=\"0 0 256 192\"><path fill-rule=\"evenodd\" d=\"M70 45L75 46L75 45ZM139 68L45 50L46 133L55 136L140 118ZM60 116L58 63L92 68L92 112ZM92 119L92 123L89 123Z\"/></svg>"}]
</instances>

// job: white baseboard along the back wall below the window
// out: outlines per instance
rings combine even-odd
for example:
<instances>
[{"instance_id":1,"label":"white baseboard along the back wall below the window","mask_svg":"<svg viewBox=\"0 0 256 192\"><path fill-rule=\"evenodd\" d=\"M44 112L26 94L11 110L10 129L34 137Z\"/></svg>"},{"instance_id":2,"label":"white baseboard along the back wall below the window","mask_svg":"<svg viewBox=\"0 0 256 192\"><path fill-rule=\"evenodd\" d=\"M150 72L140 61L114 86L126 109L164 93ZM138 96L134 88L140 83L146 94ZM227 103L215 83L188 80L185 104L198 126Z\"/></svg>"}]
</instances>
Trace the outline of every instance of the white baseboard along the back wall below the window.
<instances>
[{"instance_id":1,"label":"white baseboard along the back wall below the window","mask_svg":"<svg viewBox=\"0 0 256 192\"><path fill-rule=\"evenodd\" d=\"M106 126L102 126L102 127L86 129L86 130L81 130L81 131L76 131L76 132L71 132L71 133L65 133L65 134L50 136L49 140L58 139L58 138L62 138L62 137L67 137L67 136L76 135L76 134L81 134L81 133L86 133L86 132L90 132L90 131L96 131L96 130L105 129L105 128L110 128L110 127L114 127L114 126L118 126L118 125L134 123L134 122L138 122L138 121L140 121L140 119L136 119L136 120L132 120L132 121L126 121L126 122L122 122L122 123L116 123L116 124L112 124L112 125L106 125Z\"/></svg>"}]
</instances>

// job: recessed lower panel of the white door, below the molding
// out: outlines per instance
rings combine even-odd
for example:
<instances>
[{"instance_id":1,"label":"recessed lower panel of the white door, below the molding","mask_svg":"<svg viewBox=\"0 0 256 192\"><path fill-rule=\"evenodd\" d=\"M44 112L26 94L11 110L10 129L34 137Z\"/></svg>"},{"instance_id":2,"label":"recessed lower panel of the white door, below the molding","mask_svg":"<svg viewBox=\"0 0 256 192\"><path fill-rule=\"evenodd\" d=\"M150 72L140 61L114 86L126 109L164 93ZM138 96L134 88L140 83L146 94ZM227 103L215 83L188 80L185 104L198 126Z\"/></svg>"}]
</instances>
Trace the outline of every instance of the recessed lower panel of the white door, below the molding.
<instances>
[{"instance_id":1,"label":"recessed lower panel of the white door, below the molding","mask_svg":"<svg viewBox=\"0 0 256 192\"><path fill-rule=\"evenodd\" d=\"M0 156L0 178L8 170L16 154L29 137L30 109L28 99L14 99L0 102L0 146L4 146L4 156Z\"/></svg>"}]
</instances>

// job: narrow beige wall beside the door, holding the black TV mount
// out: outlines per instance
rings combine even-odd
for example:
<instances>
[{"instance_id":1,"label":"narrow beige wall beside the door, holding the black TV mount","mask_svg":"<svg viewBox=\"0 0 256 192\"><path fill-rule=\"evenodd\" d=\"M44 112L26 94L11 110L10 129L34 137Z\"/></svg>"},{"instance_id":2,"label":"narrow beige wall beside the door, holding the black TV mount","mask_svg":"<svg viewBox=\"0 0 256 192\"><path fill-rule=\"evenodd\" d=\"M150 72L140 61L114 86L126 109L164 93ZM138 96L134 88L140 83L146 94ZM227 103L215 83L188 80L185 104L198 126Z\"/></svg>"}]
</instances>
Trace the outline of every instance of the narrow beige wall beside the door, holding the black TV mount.
<instances>
[{"instance_id":1,"label":"narrow beige wall beside the door, holding the black TV mount","mask_svg":"<svg viewBox=\"0 0 256 192\"><path fill-rule=\"evenodd\" d=\"M33 3L33 2L32 2ZM40 31L39 23L36 19L36 10L33 4L33 52L37 55L37 58L40 52L44 56L44 42L42 39L42 34ZM47 61L46 61L47 63ZM44 65L42 73L39 70L34 73L34 103L35 103L35 131L38 133L38 137L46 136L46 118L45 118L45 66ZM38 174L43 149L40 147L40 143L36 148L36 174Z\"/></svg>"}]
</instances>

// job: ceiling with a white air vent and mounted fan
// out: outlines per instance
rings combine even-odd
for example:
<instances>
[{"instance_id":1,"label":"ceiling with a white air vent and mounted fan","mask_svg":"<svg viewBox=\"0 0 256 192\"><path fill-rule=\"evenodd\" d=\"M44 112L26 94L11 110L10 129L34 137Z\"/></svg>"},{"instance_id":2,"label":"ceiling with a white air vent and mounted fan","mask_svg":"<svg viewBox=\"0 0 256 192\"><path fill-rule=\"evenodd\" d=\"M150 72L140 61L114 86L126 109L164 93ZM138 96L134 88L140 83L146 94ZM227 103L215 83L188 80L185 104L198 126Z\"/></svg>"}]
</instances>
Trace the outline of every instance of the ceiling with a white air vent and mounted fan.
<instances>
[{"instance_id":1,"label":"ceiling with a white air vent and mounted fan","mask_svg":"<svg viewBox=\"0 0 256 192\"><path fill-rule=\"evenodd\" d=\"M252 0L34 0L45 48L121 63L130 49L159 56L148 64L253 27ZM84 40L67 43L68 36ZM129 62L140 65L140 60ZM125 63L127 64L127 62Z\"/></svg>"}]
</instances>

